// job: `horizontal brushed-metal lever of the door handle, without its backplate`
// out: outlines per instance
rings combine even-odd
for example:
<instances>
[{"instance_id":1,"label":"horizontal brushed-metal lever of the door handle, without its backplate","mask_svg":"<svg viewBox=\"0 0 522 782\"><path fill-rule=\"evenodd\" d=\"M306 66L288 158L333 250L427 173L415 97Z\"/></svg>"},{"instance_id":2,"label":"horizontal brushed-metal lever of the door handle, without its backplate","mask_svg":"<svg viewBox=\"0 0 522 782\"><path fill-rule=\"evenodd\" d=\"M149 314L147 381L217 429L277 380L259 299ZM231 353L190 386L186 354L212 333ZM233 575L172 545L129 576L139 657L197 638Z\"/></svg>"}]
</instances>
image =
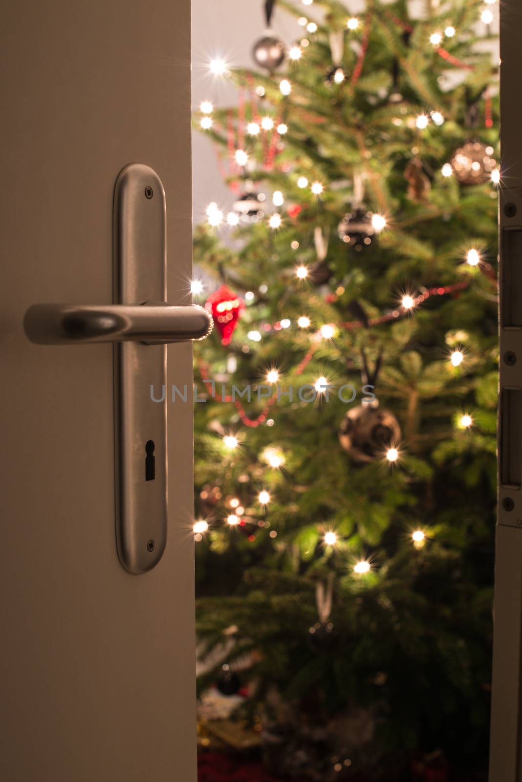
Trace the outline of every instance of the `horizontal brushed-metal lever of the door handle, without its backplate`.
<instances>
[{"instance_id":1,"label":"horizontal brushed-metal lever of the door handle, without its backplate","mask_svg":"<svg viewBox=\"0 0 522 782\"><path fill-rule=\"evenodd\" d=\"M196 305L164 303L33 304L23 328L38 345L141 342L164 344L205 339L212 331L209 313Z\"/></svg>"}]
</instances>

